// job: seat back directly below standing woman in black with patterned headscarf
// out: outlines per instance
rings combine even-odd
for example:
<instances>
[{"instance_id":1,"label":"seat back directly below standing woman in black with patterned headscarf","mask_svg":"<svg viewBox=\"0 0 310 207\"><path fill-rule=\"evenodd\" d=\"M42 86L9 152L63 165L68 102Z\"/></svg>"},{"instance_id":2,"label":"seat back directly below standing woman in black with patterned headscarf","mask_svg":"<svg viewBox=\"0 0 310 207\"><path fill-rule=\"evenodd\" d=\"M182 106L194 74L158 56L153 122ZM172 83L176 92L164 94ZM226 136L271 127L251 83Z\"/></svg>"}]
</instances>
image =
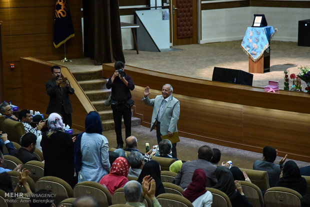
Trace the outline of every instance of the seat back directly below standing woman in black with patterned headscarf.
<instances>
[{"instance_id":1,"label":"seat back directly below standing woman in black with patterned headscarf","mask_svg":"<svg viewBox=\"0 0 310 207\"><path fill-rule=\"evenodd\" d=\"M44 176L39 178L35 182L35 191L40 189L46 189L50 193L56 194L54 198L54 203L58 205L58 203L65 198L73 196L73 190L71 186L59 177L54 176Z\"/></svg>"}]
</instances>

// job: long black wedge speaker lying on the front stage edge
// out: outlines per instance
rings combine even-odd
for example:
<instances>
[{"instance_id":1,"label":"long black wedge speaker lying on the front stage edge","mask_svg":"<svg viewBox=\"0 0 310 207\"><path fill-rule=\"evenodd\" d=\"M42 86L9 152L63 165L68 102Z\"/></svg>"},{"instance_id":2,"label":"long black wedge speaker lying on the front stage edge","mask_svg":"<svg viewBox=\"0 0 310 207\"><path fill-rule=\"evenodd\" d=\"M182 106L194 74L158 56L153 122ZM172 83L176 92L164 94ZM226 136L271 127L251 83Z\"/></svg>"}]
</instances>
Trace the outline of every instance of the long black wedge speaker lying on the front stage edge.
<instances>
[{"instance_id":1,"label":"long black wedge speaker lying on the front stage edge","mask_svg":"<svg viewBox=\"0 0 310 207\"><path fill-rule=\"evenodd\" d=\"M240 69L229 69L214 67L212 80L219 82L229 82L241 85L252 85L253 74Z\"/></svg>"}]
</instances>

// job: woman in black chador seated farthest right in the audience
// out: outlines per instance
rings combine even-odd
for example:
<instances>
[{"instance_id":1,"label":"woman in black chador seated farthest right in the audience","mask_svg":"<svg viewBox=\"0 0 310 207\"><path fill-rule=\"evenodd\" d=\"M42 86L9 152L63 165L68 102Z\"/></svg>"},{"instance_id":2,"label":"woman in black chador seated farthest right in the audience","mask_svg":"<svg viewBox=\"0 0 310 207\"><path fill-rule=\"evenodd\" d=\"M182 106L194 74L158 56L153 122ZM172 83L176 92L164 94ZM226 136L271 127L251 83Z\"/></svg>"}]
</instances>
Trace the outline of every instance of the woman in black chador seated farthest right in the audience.
<instances>
[{"instance_id":1,"label":"woman in black chador seated farthest right in the audience","mask_svg":"<svg viewBox=\"0 0 310 207\"><path fill-rule=\"evenodd\" d=\"M288 160L285 162L283 167L283 176L279 178L275 186L288 187L296 190L301 195L304 195L306 192L307 183L300 175L296 162L293 160Z\"/></svg>"}]
</instances>

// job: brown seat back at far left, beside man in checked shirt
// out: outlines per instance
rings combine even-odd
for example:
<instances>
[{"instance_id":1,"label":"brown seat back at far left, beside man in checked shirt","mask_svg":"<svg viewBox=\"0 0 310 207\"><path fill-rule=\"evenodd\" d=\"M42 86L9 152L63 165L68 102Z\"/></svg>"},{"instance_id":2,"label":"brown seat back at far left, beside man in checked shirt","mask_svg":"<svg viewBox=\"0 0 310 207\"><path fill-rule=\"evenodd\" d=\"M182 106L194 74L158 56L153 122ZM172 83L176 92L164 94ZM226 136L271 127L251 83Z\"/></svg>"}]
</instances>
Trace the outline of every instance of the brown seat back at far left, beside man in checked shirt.
<instances>
[{"instance_id":1,"label":"brown seat back at far left, beside man in checked shirt","mask_svg":"<svg viewBox=\"0 0 310 207\"><path fill-rule=\"evenodd\" d=\"M5 118L3 121L4 131L10 141L20 143L20 137L25 134L24 126L19 121L14 121L10 118Z\"/></svg>"}]
</instances>

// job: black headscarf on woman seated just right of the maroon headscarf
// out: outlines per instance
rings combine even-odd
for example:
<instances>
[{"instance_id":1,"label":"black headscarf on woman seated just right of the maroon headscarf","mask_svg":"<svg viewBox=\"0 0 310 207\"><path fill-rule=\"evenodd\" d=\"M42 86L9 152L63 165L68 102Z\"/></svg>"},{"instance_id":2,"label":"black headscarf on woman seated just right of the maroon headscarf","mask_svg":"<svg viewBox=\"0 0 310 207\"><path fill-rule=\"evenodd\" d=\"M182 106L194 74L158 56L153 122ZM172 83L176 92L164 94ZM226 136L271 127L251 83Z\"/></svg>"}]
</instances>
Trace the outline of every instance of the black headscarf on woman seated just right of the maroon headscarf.
<instances>
[{"instance_id":1,"label":"black headscarf on woman seated just right of the maroon headscarf","mask_svg":"<svg viewBox=\"0 0 310 207\"><path fill-rule=\"evenodd\" d=\"M217 178L217 184L213 188L219 189L228 195L229 199L232 200L236 196L237 191L235 190L234 180L232 173L226 166L218 166L215 169Z\"/></svg>"}]
</instances>

